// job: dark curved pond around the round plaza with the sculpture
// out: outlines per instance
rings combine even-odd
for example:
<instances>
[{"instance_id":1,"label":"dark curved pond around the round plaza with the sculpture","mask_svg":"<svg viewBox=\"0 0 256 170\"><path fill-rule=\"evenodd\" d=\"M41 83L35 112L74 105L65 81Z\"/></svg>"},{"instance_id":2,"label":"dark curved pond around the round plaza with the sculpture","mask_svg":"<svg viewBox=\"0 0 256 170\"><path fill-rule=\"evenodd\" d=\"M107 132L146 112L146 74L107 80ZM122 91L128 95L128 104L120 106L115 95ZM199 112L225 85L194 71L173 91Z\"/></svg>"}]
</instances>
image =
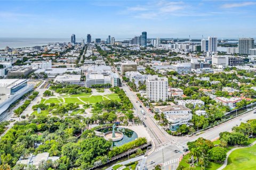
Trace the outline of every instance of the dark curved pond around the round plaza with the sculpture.
<instances>
[{"instance_id":1,"label":"dark curved pond around the round plaza with the sculpture","mask_svg":"<svg viewBox=\"0 0 256 170\"><path fill-rule=\"evenodd\" d=\"M104 128L97 131L106 133L106 132L112 131L112 128ZM137 133L135 133L130 129L117 127L115 128L115 131L122 132L124 134L124 137L122 140L113 142L113 146L121 146L121 145L124 145L125 143L131 142L138 138Z\"/></svg>"}]
</instances>

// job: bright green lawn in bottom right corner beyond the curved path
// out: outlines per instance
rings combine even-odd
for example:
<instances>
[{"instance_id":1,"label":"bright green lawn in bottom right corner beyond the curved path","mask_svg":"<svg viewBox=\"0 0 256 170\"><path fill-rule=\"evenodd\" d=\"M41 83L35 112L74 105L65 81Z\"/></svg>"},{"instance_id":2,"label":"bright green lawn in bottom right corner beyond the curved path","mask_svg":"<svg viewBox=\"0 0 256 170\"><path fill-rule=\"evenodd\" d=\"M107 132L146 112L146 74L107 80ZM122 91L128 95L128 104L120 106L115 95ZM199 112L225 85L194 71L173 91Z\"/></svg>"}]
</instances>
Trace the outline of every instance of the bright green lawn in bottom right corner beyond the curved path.
<instances>
[{"instance_id":1,"label":"bright green lawn in bottom right corner beyond the curved path","mask_svg":"<svg viewBox=\"0 0 256 170\"><path fill-rule=\"evenodd\" d=\"M228 165L224 169L255 169L256 145L234 150L228 157Z\"/></svg>"}]
</instances>

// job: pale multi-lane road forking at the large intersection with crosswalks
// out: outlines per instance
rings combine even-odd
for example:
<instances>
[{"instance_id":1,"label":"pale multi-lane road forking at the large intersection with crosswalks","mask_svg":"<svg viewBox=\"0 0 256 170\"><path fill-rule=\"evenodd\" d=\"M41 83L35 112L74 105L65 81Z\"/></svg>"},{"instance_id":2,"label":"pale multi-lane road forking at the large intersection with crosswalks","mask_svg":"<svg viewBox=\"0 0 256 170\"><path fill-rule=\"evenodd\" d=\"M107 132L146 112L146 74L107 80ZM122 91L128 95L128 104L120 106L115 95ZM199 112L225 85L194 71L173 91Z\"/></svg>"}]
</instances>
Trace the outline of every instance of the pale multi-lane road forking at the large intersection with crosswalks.
<instances>
[{"instance_id":1,"label":"pale multi-lane road forking at the large intersection with crosswalks","mask_svg":"<svg viewBox=\"0 0 256 170\"><path fill-rule=\"evenodd\" d=\"M246 122L247 120L256 118L256 114L253 114L253 111L251 111L244 115L235 117L226 123L222 123L214 128L204 131L201 134L193 135L191 137L173 137L172 135L167 134L161 126L157 125L153 118L153 114L140 103L135 92L130 90L125 83L123 83L122 88L127 97L131 100L138 116L142 118L144 116L146 117L146 119L143 118L143 121L145 122L147 126L146 129L154 143L154 152L150 154L147 159L148 169L153 169L154 165L157 164L161 164L163 169L176 169L179 164L179 158L184 153L183 150L187 148L187 142L194 141L200 137L209 140L217 139L220 132L231 131L234 126L239 125L241 122ZM142 115L141 110L146 114ZM179 152L175 152L175 150L178 150ZM149 164L150 160L153 160L155 163Z\"/></svg>"}]
</instances>

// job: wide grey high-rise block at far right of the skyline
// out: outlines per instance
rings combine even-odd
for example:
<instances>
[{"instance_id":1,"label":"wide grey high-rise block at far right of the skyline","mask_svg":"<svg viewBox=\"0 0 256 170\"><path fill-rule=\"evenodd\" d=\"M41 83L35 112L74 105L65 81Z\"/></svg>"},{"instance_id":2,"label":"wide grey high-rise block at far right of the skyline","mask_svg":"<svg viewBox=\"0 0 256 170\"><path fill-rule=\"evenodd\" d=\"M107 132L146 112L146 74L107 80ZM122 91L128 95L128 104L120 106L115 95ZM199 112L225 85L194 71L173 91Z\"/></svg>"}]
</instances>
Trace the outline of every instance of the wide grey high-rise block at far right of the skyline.
<instances>
[{"instance_id":1,"label":"wide grey high-rise block at far right of the skyline","mask_svg":"<svg viewBox=\"0 0 256 170\"><path fill-rule=\"evenodd\" d=\"M238 39L238 53L249 54L249 49L254 48L253 38L239 38Z\"/></svg>"}]
</instances>

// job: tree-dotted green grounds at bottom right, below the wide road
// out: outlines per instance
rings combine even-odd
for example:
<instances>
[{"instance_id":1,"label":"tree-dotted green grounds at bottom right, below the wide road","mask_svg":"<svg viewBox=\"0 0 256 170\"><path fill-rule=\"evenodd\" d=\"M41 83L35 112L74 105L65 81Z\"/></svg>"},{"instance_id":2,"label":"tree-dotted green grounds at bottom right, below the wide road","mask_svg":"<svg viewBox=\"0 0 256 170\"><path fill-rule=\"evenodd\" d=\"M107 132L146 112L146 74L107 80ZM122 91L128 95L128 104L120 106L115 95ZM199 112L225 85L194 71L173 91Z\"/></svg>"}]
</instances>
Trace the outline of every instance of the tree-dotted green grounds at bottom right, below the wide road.
<instances>
[{"instance_id":1,"label":"tree-dotted green grounds at bottom right, below the wide road","mask_svg":"<svg viewBox=\"0 0 256 170\"><path fill-rule=\"evenodd\" d=\"M249 120L233 127L232 132L221 132L217 141L198 138L194 142L188 142L190 152L183 157L177 169L218 169L229 150L237 146L248 146L256 140L251 138L256 134L255 126L256 120ZM255 166L254 149L255 146L233 151L225 169L251 169L250 167Z\"/></svg>"}]
</instances>

